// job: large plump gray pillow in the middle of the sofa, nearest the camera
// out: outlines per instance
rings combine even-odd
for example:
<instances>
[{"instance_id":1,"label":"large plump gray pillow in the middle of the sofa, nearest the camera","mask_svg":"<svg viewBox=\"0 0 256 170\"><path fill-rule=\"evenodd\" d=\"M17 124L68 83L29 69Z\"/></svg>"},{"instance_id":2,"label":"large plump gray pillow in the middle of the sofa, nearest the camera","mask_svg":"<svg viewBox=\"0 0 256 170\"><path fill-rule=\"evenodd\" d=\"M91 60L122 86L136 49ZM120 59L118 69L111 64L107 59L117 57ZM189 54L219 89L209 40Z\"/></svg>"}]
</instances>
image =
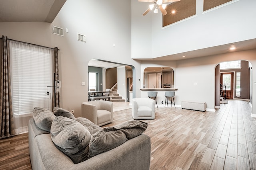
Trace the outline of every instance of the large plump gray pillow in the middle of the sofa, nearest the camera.
<instances>
[{"instance_id":1,"label":"large plump gray pillow in the middle of the sofa, nearest the camera","mask_svg":"<svg viewBox=\"0 0 256 170\"><path fill-rule=\"evenodd\" d=\"M51 138L56 147L70 157L74 164L88 159L90 132L68 117L57 116L52 121Z\"/></svg>"}]
</instances>

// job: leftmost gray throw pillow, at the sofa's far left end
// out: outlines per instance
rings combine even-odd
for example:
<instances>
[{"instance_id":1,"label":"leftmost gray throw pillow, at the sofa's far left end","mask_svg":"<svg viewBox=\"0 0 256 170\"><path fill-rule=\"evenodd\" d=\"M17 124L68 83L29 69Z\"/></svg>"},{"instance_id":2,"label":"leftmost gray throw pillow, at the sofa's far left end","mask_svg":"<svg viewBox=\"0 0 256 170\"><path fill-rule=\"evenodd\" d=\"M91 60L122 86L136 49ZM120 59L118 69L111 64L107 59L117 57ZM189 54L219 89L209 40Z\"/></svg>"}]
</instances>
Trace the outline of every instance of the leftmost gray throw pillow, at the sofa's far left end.
<instances>
[{"instance_id":1,"label":"leftmost gray throw pillow, at the sofa's far left end","mask_svg":"<svg viewBox=\"0 0 256 170\"><path fill-rule=\"evenodd\" d=\"M49 110L34 107L33 118L36 123L36 126L44 131L50 132L52 121L56 116Z\"/></svg>"}]
</instances>

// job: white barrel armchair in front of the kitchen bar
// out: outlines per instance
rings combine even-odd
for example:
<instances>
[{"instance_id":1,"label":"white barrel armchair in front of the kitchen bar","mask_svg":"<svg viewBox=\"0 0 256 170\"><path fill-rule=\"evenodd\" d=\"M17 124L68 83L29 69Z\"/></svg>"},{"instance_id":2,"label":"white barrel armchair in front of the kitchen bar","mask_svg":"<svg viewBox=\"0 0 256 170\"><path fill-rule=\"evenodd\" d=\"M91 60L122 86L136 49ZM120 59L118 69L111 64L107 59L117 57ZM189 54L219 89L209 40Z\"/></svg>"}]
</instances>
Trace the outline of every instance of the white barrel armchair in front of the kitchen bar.
<instances>
[{"instance_id":1,"label":"white barrel armchair in front of the kitchen bar","mask_svg":"<svg viewBox=\"0 0 256 170\"><path fill-rule=\"evenodd\" d=\"M132 99L133 119L155 119L155 100L150 98Z\"/></svg>"}]
</instances>

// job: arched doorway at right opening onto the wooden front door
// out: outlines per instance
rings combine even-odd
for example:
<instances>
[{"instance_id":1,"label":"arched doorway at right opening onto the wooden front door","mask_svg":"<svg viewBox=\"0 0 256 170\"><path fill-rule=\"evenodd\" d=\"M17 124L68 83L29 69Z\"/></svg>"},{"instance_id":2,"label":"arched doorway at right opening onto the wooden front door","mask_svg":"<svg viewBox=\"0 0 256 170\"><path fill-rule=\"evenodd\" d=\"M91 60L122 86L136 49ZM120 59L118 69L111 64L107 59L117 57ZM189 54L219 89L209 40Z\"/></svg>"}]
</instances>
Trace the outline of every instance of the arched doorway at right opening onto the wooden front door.
<instances>
[{"instance_id":1,"label":"arched doorway at right opening onto the wooden front door","mask_svg":"<svg viewBox=\"0 0 256 170\"><path fill-rule=\"evenodd\" d=\"M245 60L222 62L215 67L215 107L228 100L251 100L251 63Z\"/></svg>"}]
</instances>

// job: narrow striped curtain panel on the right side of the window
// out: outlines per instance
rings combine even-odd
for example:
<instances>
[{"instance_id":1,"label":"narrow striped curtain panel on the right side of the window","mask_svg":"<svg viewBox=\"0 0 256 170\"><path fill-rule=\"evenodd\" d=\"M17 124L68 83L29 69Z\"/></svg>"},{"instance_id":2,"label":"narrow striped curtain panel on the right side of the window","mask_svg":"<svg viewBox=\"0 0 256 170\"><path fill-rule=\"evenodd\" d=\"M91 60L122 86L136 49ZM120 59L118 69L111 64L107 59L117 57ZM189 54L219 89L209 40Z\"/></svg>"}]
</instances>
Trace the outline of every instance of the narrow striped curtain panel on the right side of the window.
<instances>
[{"instance_id":1,"label":"narrow striped curtain panel on the right side of the window","mask_svg":"<svg viewBox=\"0 0 256 170\"><path fill-rule=\"evenodd\" d=\"M54 47L54 62L53 62L53 72L54 72L54 80L59 80L59 68L58 68L58 47ZM54 82L56 83L56 82ZM60 107L60 93L56 91L53 91L53 94L55 92L55 95L52 96L52 108L53 107Z\"/></svg>"}]
</instances>

